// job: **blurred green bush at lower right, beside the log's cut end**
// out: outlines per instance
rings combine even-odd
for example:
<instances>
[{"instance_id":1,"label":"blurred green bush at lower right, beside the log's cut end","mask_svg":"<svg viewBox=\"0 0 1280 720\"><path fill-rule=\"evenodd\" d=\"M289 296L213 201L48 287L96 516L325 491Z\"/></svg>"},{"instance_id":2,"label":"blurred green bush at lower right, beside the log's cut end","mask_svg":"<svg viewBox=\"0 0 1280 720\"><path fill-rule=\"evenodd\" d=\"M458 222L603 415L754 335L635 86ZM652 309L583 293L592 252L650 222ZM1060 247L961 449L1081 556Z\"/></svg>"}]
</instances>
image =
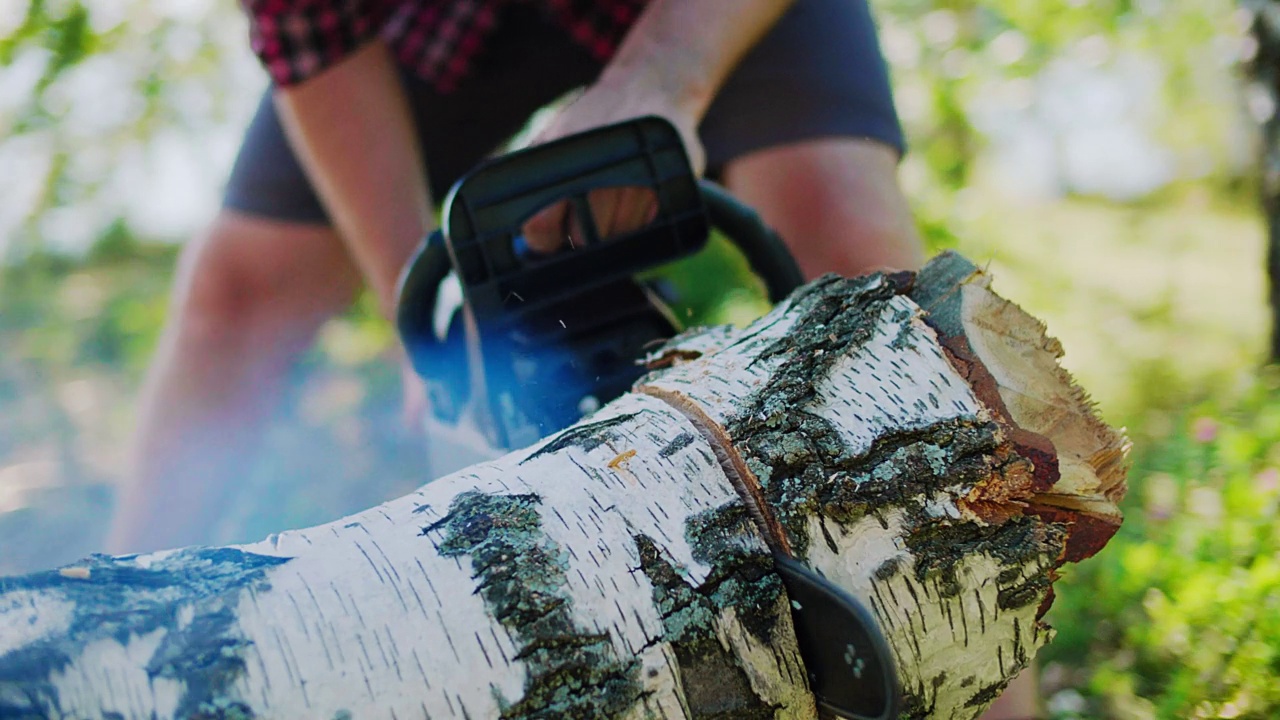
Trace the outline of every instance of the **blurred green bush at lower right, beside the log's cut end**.
<instances>
[{"instance_id":1,"label":"blurred green bush at lower right, beside the log's cut end","mask_svg":"<svg viewBox=\"0 0 1280 720\"><path fill-rule=\"evenodd\" d=\"M1092 702L1060 716L1280 712L1280 378L1140 447L1125 523L1071 568L1043 653ZM1055 688L1051 688L1055 689Z\"/></svg>"}]
</instances>

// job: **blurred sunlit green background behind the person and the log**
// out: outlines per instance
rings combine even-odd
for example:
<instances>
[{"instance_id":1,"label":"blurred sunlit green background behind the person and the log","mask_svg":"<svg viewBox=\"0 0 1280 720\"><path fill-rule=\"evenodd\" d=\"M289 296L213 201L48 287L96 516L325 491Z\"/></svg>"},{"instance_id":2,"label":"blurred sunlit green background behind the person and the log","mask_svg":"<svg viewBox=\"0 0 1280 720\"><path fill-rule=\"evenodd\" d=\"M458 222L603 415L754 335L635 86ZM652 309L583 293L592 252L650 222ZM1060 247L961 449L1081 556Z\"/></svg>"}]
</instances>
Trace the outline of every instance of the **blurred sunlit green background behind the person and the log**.
<instances>
[{"instance_id":1,"label":"blurred sunlit green background behind the person and the log","mask_svg":"<svg viewBox=\"0 0 1280 720\"><path fill-rule=\"evenodd\" d=\"M1280 716L1254 5L874 3L931 249L989 264L1135 441L1125 529L1060 583L1055 717ZM264 87L232 3L0 0L0 573L99 550L177 249ZM675 275L708 322L760 310L723 252ZM392 342L369 302L325 328L223 539L424 480Z\"/></svg>"}]
</instances>

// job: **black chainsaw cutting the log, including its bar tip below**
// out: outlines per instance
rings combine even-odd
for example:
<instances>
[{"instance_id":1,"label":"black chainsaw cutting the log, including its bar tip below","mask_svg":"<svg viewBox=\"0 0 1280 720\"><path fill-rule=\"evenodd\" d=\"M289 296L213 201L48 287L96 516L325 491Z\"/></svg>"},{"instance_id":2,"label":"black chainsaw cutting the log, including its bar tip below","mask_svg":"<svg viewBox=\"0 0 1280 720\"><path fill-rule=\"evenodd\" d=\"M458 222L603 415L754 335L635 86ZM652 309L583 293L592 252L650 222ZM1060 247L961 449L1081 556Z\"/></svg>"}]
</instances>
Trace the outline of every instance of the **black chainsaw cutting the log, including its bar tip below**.
<instances>
[{"instance_id":1,"label":"black chainsaw cutting the log, including its bar tip below","mask_svg":"<svg viewBox=\"0 0 1280 720\"><path fill-rule=\"evenodd\" d=\"M643 227L602 237L589 196L622 187L646 192L655 210ZM532 251L522 227L559 202L572 220L564 247ZM801 284L777 233L700 181L662 118L502 155L458 179L439 229L407 265L397 311L428 387L430 477L532 445L630 389L645 352L682 329L671 288L641 275L703 250L712 228L741 251L772 302ZM776 555L776 566L819 708L896 717L892 655L865 606L791 557Z\"/></svg>"}]
</instances>

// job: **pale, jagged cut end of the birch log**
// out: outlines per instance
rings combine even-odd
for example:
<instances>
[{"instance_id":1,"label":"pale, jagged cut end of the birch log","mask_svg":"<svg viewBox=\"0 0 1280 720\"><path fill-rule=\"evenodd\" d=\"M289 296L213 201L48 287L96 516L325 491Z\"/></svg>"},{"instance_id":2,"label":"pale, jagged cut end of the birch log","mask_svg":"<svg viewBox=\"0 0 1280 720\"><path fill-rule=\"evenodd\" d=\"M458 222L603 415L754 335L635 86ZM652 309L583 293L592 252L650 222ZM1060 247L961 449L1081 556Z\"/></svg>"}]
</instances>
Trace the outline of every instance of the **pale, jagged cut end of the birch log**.
<instances>
[{"instance_id":1,"label":"pale, jagged cut end of the birch log","mask_svg":"<svg viewBox=\"0 0 1280 720\"><path fill-rule=\"evenodd\" d=\"M931 261L911 297L950 359L1033 464L1032 482L974 488L979 515L1009 503L1068 528L1064 562L1092 556L1120 528L1130 442L1103 423L1059 365L1044 324L991 291L991 275L954 252Z\"/></svg>"}]
</instances>

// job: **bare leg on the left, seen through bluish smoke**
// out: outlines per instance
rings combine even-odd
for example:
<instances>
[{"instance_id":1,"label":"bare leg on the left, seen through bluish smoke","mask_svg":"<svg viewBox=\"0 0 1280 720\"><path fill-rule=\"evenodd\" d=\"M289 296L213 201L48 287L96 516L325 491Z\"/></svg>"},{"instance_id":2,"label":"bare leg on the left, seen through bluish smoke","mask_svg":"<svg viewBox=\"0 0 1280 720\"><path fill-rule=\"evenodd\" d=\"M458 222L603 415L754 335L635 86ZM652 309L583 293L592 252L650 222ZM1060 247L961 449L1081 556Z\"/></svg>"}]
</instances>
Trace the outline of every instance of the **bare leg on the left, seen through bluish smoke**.
<instances>
[{"instance_id":1,"label":"bare leg on the left, seen through bluish smoke","mask_svg":"<svg viewBox=\"0 0 1280 720\"><path fill-rule=\"evenodd\" d=\"M360 288L329 228L223 211L183 251L109 550L210 542L284 374Z\"/></svg>"}]
</instances>

